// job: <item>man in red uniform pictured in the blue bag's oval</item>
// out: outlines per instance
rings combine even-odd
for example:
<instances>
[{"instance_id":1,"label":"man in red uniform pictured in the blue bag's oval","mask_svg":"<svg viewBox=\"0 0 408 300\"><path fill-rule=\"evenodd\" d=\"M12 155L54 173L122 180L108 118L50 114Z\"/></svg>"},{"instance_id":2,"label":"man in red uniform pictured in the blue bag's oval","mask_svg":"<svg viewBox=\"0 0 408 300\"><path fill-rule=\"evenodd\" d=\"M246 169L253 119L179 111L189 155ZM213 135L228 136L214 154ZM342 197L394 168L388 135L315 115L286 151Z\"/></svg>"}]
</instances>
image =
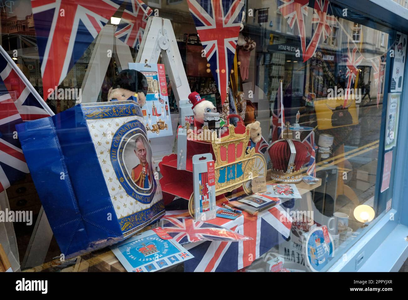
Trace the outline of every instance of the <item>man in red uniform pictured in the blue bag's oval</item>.
<instances>
[{"instance_id":1,"label":"man in red uniform pictured in the blue bag's oval","mask_svg":"<svg viewBox=\"0 0 408 300\"><path fill-rule=\"evenodd\" d=\"M147 150L146 146L144 145L142 136L136 138L134 151L136 157L139 160L139 164L137 164L136 167L133 167L132 169L132 180L138 187L141 187L142 189L149 189L152 179L149 169L149 163L147 162Z\"/></svg>"}]
</instances>

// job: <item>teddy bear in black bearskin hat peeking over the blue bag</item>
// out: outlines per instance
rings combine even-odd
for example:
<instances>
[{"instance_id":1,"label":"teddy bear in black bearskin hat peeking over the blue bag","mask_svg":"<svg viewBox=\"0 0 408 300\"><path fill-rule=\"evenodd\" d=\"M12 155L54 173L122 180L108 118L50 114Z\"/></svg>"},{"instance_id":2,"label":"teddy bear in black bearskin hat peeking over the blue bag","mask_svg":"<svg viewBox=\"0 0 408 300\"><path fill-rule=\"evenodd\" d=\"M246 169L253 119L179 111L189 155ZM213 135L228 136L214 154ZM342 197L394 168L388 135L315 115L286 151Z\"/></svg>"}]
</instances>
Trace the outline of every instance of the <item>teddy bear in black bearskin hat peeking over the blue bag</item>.
<instances>
[{"instance_id":1,"label":"teddy bear in black bearskin hat peeking over the blue bag","mask_svg":"<svg viewBox=\"0 0 408 300\"><path fill-rule=\"evenodd\" d=\"M147 80L139 71L126 69L118 74L113 86L108 92L108 101L128 100L137 97L137 103L142 107L146 103Z\"/></svg>"}]
</instances>

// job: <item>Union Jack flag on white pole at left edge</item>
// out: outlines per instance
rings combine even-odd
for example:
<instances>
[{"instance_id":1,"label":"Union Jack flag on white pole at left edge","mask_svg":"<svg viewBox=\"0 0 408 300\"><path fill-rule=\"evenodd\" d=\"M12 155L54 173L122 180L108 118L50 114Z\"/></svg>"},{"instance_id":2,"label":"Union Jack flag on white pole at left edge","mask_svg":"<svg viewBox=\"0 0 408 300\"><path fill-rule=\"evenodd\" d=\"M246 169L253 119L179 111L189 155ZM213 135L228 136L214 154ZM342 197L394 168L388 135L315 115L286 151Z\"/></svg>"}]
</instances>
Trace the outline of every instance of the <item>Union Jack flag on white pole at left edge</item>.
<instances>
[{"instance_id":1,"label":"Union Jack flag on white pole at left edge","mask_svg":"<svg viewBox=\"0 0 408 300\"><path fill-rule=\"evenodd\" d=\"M53 114L0 46L0 191L29 173L16 125Z\"/></svg>"}]
</instances>

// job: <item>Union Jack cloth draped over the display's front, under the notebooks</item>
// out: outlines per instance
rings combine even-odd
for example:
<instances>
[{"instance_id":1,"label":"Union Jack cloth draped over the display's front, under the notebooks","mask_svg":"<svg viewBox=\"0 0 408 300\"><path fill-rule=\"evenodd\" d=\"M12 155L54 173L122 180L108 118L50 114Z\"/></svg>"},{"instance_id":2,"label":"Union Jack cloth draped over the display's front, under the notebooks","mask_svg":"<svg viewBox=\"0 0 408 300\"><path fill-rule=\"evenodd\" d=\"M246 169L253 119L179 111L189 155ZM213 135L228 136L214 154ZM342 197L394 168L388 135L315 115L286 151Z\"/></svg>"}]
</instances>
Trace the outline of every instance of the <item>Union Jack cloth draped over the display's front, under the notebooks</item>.
<instances>
[{"instance_id":1,"label":"Union Jack cloth draped over the display's front, under the notebooks","mask_svg":"<svg viewBox=\"0 0 408 300\"><path fill-rule=\"evenodd\" d=\"M180 211L167 211L179 217ZM188 214L188 213L187 213ZM185 216L182 213L182 216ZM262 211L253 216L245 211L235 220L215 218L207 223L231 229L253 240L239 242L205 241L183 245L194 258L184 263L186 272L233 272L249 266L255 259L283 241L290 234L292 219L280 206Z\"/></svg>"}]
</instances>

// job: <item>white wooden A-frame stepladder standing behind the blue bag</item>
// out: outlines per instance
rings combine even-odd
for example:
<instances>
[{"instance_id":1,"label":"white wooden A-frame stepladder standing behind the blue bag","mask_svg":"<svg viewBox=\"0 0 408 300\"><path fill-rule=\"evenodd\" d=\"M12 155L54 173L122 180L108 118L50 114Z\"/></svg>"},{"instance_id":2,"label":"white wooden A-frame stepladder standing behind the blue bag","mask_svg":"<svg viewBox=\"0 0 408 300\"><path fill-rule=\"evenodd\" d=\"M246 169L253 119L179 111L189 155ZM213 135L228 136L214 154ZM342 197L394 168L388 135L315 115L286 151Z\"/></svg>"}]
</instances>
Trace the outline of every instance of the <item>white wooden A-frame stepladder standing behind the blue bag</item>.
<instances>
[{"instance_id":1,"label":"white wooden A-frame stepladder standing behind the blue bag","mask_svg":"<svg viewBox=\"0 0 408 300\"><path fill-rule=\"evenodd\" d=\"M103 31L101 31L101 33L102 32ZM109 30L109 33L111 33L111 30ZM102 38L102 36L98 36L97 42L102 40ZM92 80L93 74L98 73L97 71L104 70L103 74L100 75L104 76L109 64L109 61L104 62L104 65L101 68L100 62L97 61L98 54L101 51L101 49L98 48L99 47L95 45L93 52L96 51L98 53L92 53L90 60L90 64L92 63L92 65L88 67L89 71L87 71L84 79L86 82L82 83L82 86L85 89L82 92L82 102L92 102L90 101L90 99L97 98L100 89L96 91L95 84L92 84L92 82L91 84L89 84L89 81ZM106 53L105 49L103 49L102 52ZM157 64L160 54L162 54L164 67L170 79L171 87L173 89L173 93L177 102L177 107L179 107L180 124L183 124L184 116L193 115L191 109L192 104L188 102L188 95L191 91L180 56L180 51L178 50L177 40L175 38L173 27L171 26L171 22L168 19L163 19L160 17L150 17L147 21L139 52L137 53L136 62ZM119 62L121 66L123 66L123 60L119 58ZM129 67L131 67L132 63L133 61L129 62ZM101 80L98 80L97 85L99 84L100 87L102 87ZM177 120L175 121L176 126L173 126L173 135L175 130L177 129ZM157 160L157 157L163 157L165 155L169 155L172 152L174 137L166 136L162 138L154 138L151 139L150 142L153 151L153 158L156 157ZM52 236L53 234L51 227L49 225L47 217L45 216L44 210L41 207L37 222L34 226L33 233L31 234L31 239L27 247L27 251L24 255L21 269L27 267L35 267L44 263Z\"/></svg>"}]
</instances>

